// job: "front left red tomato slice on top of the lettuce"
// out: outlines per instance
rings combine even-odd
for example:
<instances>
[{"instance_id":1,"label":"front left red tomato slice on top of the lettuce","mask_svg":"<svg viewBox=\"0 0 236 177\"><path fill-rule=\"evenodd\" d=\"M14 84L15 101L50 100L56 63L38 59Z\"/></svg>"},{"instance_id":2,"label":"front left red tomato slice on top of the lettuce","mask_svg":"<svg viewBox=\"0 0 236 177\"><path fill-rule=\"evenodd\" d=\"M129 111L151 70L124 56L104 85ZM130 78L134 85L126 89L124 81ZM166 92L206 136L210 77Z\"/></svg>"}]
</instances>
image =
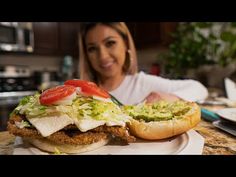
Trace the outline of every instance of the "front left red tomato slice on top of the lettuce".
<instances>
[{"instance_id":1,"label":"front left red tomato slice on top of the lettuce","mask_svg":"<svg viewBox=\"0 0 236 177\"><path fill-rule=\"evenodd\" d=\"M76 91L76 87L71 85L60 85L48 90L45 90L40 95L40 103L43 105L50 105L56 101L59 101L67 96L70 96Z\"/></svg>"}]
</instances>

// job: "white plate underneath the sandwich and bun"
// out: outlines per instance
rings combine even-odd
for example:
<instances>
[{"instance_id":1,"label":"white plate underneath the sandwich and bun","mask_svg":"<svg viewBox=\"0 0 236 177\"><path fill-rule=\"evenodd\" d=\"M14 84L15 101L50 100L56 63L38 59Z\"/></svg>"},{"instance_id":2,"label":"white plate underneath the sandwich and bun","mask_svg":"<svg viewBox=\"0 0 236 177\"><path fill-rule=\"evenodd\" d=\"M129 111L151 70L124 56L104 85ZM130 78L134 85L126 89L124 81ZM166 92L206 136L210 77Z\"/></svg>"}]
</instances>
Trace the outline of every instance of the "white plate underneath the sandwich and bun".
<instances>
[{"instance_id":1,"label":"white plate underneath the sandwich and bun","mask_svg":"<svg viewBox=\"0 0 236 177\"><path fill-rule=\"evenodd\" d=\"M29 144L22 144L20 137L17 137L13 154L24 155L46 155ZM82 153L80 155L167 155L167 154L202 154L204 138L196 131L190 130L187 133L167 140L144 141L137 140L126 146L106 145L97 150Z\"/></svg>"}]
</instances>

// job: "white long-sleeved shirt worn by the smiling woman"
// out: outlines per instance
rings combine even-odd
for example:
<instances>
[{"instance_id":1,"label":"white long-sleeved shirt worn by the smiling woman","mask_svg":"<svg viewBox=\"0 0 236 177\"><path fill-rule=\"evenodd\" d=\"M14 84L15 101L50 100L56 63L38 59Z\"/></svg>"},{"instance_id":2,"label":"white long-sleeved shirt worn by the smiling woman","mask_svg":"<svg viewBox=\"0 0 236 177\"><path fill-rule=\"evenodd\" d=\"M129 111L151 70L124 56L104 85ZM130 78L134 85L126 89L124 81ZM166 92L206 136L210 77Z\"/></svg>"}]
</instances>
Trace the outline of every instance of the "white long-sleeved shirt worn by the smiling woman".
<instances>
[{"instance_id":1,"label":"white long-sleeved shirt worn by the smiling woman","mask_svg":"<svg viewBox=\"0 0 236 177\"><path fill-rule=\"evenodd\" d=\"M110 94L121 103L132 105L144 101L151 92L158 91L175 94L187 101L203 100L208 96L206 87L198 81L170 80L144 72L127 75L121 85Z\"/></svg>"}]
</instances>

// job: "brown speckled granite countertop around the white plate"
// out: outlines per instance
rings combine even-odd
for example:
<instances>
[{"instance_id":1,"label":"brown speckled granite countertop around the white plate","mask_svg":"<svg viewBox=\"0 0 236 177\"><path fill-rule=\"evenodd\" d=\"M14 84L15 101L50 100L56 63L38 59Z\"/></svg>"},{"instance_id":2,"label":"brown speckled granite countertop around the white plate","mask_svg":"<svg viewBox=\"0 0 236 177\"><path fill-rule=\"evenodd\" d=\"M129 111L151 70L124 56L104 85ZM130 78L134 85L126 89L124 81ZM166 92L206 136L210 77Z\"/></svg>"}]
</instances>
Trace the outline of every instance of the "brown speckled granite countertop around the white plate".
<instances>
[{"instance_id":1,"label":"brown speckled granite countertop around the white plate","mask_svg":"<svg viewBox=\"0 0 236 177\"><path fill-rule=\"evenodd\" d=\"M236 137L214 127L210 122L202 120L195 128L205 138L203 155L236 154ZM14 136L7 131L0 132L0 145L14 141Z\"/></svg>"}]
</instances>

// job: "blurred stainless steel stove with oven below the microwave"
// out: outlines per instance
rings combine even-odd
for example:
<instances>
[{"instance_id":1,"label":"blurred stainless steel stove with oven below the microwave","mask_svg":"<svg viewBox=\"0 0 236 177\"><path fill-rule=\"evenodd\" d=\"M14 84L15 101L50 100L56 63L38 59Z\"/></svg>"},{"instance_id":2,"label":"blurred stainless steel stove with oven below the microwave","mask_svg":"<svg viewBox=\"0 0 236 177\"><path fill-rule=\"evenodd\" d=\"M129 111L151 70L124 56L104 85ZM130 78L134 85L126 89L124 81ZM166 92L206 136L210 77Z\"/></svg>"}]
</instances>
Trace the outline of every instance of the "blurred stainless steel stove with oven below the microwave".
<instances>
[{"instance_id":1,"label":"blurred stainless steel stove with oven below the microwave","mask_svg":"<svg viewBox=\"0 0 236 177\"><path fill-rule=\"evenodd\" d=\"M19 101L36 89L27 66L0 66L0 131L6 130L9 114Z\"/></svg>"}]
</instances>

